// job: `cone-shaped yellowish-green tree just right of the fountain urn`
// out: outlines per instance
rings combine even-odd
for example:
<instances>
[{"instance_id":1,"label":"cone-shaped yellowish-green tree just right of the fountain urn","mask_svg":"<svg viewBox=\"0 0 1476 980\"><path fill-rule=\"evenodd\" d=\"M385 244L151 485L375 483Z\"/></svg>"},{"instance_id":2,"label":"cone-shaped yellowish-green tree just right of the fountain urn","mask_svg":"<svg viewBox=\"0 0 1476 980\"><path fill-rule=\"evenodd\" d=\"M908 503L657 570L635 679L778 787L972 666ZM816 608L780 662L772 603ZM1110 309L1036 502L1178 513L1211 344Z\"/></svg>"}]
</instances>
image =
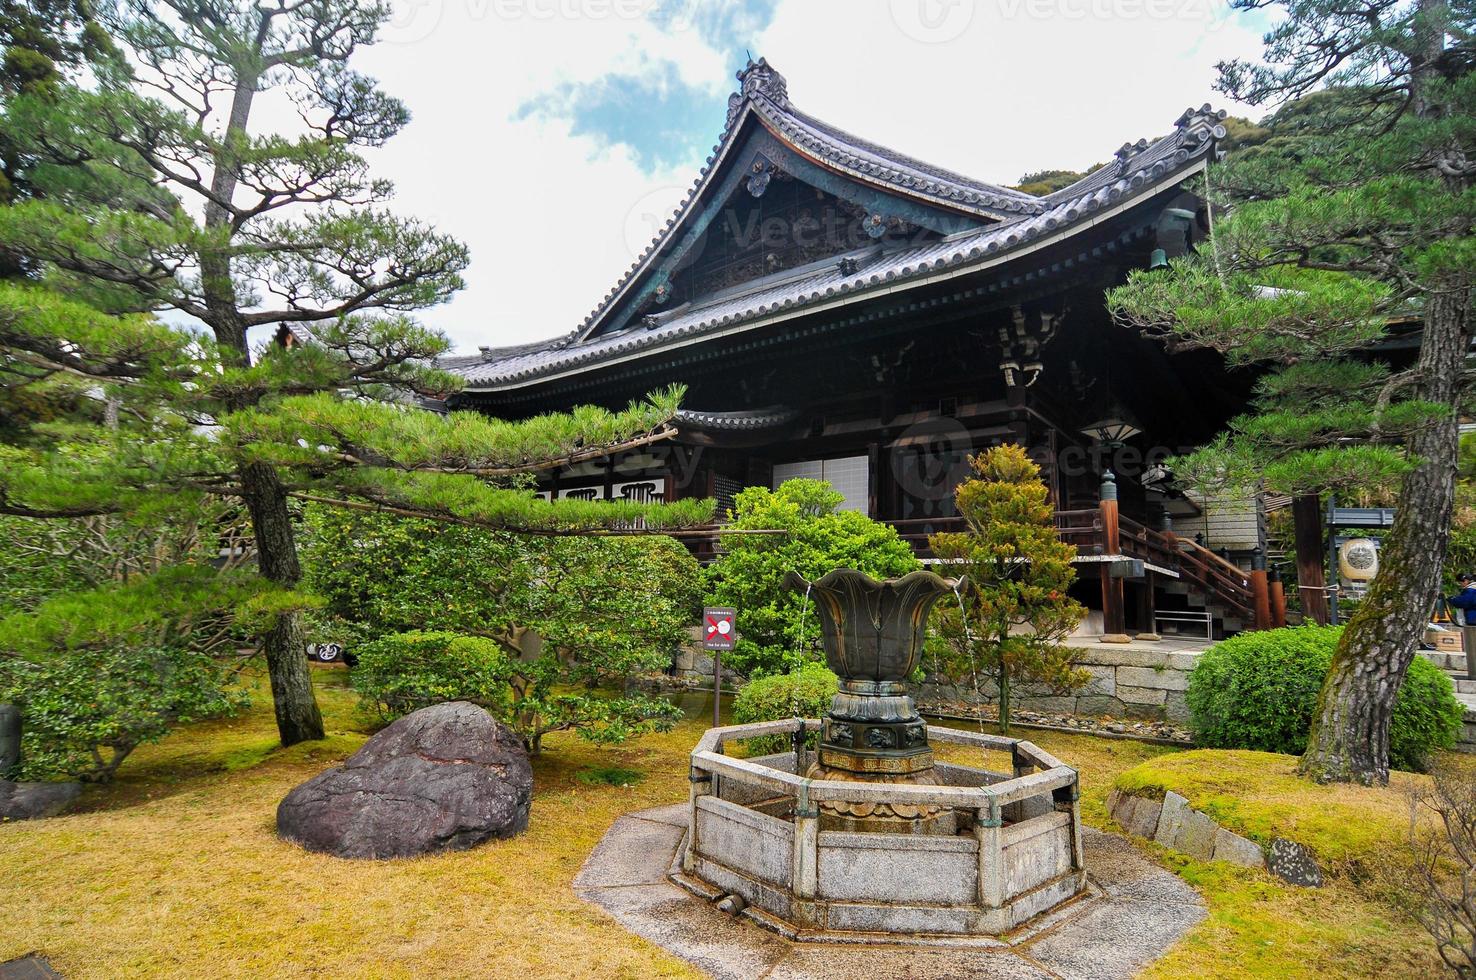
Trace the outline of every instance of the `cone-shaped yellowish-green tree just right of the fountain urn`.
<instances>
[{"instance_id":1,"label":"cone-shaped yellowish-green tree just right of the fountain urn","mask_svg":"<svg viewBox=\"0 0 1476 980\"><path fill-rule=\"evenodd\" d=\"M1008 734L1010 691L1017 680L1057 691L1086 682L1086 672L1072 666L1075 651L1061 642L1086 610L1067 595L1076 580L1076 548L1055 533L1041 468L1024 449L1010 444L986 449L968 463L976 478L953 491L967 530L928 537L949 574L968 577L964 611L939 604L934 626L953 654L949 674L983 670L993 677L999 726Z\"/></svg>"}]
</instances>

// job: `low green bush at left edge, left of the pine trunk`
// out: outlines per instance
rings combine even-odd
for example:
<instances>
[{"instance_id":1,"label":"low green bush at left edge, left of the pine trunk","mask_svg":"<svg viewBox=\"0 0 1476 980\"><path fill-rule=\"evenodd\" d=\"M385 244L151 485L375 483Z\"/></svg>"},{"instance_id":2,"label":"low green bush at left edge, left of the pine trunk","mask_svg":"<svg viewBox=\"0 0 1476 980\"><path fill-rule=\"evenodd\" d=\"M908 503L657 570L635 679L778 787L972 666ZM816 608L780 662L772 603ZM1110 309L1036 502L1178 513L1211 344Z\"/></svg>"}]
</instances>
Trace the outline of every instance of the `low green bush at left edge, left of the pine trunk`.
<instances>
[{"instance_id":1,"label":"low green bush at left edge, left of the pine trunk","mask_svg":"<svg viewBox=\"0 0 1476 980\"><path fill-rule=\"evenodd\" d=\"M13 778L106 782L139 745L232 714L246 695L208 654L125 646L0 660L0 701L21 708Z\"/></svg>"}]
</instances>

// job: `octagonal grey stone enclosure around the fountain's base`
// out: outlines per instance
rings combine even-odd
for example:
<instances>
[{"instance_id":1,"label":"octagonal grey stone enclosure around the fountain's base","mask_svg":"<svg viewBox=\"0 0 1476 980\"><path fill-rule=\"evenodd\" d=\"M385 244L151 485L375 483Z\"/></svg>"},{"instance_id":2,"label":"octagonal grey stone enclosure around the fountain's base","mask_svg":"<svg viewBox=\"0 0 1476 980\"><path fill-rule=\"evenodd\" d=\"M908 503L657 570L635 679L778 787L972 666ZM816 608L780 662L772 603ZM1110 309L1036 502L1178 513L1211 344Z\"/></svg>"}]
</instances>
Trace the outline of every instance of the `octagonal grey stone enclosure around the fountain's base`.
<instances>
[{"instance_id":1,"label":"octagonal grey stone enclosure around the fountain's base","mask_svg":"<svg viewBox=\"0 0 1476 980\"><path fill-rule=\"evenodd\" d=\"M791 937L1002 936L1086 887L1076 770L1017 738L928 726L931 742L1010 753L1013 772L937 762L942 785L809 779L807 751L735 759L723 745L818 732L815 719L708 729L691 754L673 880L737 894ZM821 829L819 804L952 807L952 835ZM763 921L765 917L756 917Z\"/></svg>"}]
</instances>

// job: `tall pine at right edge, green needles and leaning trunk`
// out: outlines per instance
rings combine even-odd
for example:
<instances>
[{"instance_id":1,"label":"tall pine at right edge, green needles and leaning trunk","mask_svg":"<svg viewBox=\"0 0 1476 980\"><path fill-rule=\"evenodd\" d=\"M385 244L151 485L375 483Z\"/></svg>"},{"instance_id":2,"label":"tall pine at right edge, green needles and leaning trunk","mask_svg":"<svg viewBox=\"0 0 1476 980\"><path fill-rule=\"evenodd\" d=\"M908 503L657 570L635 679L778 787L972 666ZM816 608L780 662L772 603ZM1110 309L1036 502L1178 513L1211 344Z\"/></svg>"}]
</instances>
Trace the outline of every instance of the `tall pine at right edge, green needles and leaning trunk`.
<instances>
[{"instance_id":1,"label":"tall pine at right edge, green needles and leaning trunk","mask_svg":"<svg viewBox=\"0 0 1476 980\"><path fill-rule=\"evenodd\" d=\"M1210 246L1168 276L1135 273L1110 303L1172 342L1287 368L1269 384L1283 404L1308 410L1265 424L1293 447L1278 478L1328 486L1328 474L1348 472L1358 456L1309 444L1343 446L1339 432L1373 435L1358 453L1402 466L1382 573L1343 632L1302 762L1318 781L1384 784L1393 698L1451 528L1476 272L1473 9L1446 0L1235 6L1286 16L1266 34L1263 63L1221 65L1224 92L1250 103L1340 92L1302 106L1296 140L1268 142L1212 171L1225 214ZM1411 369L1390 373L1355 357L1410 313L1423 326ZM1349 378L1367 393L1361 404L1328 394Z\"/></svg>"}]
</instances>

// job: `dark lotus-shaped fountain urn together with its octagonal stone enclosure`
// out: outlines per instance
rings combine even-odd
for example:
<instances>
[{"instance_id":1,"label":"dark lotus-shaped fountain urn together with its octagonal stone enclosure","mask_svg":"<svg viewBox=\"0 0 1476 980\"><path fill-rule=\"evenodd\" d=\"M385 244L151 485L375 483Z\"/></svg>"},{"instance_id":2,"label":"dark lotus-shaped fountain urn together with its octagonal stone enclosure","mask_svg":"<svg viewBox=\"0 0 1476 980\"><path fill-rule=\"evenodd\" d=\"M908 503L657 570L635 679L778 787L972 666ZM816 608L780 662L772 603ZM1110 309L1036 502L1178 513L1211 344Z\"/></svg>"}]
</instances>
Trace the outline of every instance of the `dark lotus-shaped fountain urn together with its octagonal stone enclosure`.
<instances>
[{"instance_id":1,"label":"dark lotus-shaped fountain urn together with its octagonal stone enclosure","mask_svg":"<svg viewBox=\"0 0 1476 980\"><path fill-rule=\"evenodd\" d=\"M821 614L840 676L830 714L713 728L692 750L673 880L797 939L999 936L1085 887L1076 770L1024 739L928 729L906 692L927 614L956 583L791 574ZM821 734L804 766L804 736ZM796 751L735 759L729 741ZM933 760L928 739L1005 751L1013 772Z\"/></svg>"}]
</instances>

